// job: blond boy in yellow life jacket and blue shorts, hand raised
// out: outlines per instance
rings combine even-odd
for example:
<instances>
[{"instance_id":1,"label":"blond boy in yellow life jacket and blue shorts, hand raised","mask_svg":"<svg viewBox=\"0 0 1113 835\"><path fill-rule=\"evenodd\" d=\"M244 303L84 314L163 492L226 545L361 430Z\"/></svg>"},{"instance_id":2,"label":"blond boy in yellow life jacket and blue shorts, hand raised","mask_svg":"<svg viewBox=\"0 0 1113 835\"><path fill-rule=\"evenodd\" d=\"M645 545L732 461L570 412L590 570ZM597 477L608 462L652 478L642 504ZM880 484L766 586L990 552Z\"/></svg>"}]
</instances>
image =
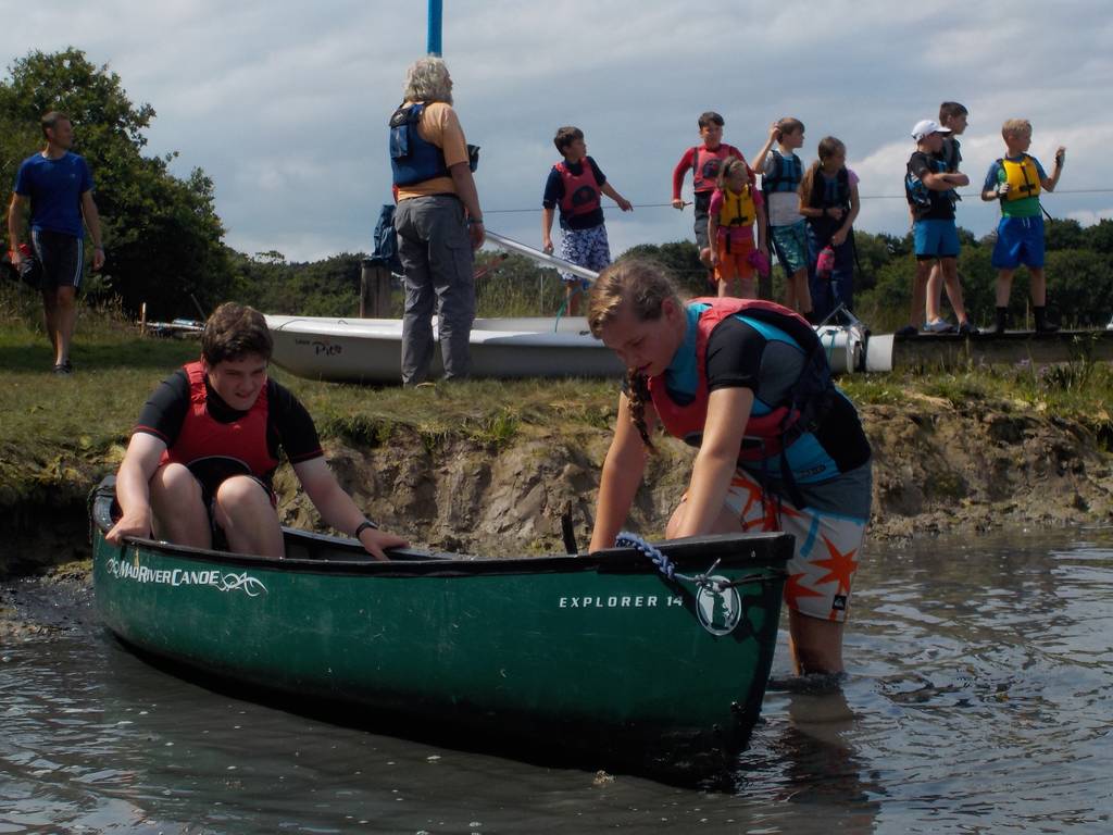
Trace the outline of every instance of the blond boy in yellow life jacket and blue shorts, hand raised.
<instances>
[{"instance_id":1,"label":"blond boy in yellow life jacket and blue shorts, hand raised","mask_svg":"<svg viewBox=\"0 0 1113 835\"><path fill-rule=\"evenodd\" d=\"M1037 333L1052 333L1058 325L1047 321L1047 282L1044 276L1044 232L1040 191L1054 191L1063 173L1066 148L1055 151L1055 168L1048 177L1040 160L1028 156L1032 122L1009 119L1001 128L1007 154L989 166L982 186L983 200L1001 200L997 243L993 266L997 269L997 315L994 333L1004 333L1008 324L1008 295L1013 273L1024 264L1032 279L1032 313Z\"/></svg>"}]
</instances>

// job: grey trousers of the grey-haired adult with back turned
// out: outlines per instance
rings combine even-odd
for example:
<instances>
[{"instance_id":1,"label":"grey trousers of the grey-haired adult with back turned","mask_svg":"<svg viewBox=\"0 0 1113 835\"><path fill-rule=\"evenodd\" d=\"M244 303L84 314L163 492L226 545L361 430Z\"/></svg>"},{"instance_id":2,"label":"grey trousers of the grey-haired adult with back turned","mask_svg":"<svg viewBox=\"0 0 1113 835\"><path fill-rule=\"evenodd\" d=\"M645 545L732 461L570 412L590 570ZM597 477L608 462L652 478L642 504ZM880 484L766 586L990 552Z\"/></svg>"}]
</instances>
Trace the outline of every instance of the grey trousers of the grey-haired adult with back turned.
<instances>
[{"instance_id":1,"label":"grey trousers of the grey-haired adult with back turned","mask_svg":"<svg viewBox=\"0 0 1113 835\"><path fill-rule=\"evenodd\" d=\"M444 377L465 377L472 365L467 340L475 318L475 284L464 206L451 195L411 197L398 203L394 229L406 288L402 384L416 385L429 379L434 308Z\"/></svg>"}]
</instances>

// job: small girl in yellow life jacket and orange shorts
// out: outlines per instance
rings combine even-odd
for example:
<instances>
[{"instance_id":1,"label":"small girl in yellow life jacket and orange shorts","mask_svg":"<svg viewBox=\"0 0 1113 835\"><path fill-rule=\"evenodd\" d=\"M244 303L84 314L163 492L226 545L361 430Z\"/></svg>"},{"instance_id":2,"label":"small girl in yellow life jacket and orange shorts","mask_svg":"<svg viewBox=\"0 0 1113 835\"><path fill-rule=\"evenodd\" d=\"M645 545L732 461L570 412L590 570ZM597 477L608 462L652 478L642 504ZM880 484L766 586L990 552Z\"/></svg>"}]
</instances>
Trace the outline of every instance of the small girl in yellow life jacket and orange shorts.
<instances>
[{"instance_id":1,"label":"small girl in yellow life jacket and orange shorts","mask_svg":"<svg viewBox=\"0 0 1113 835\"><path fill-rule=\"evenodd\" d=\"M731 157L719 169L718 187L708 205L708 240L719 296L757 298L754 287L754 224L758 227L758 250L769 263L766 216L761 194L750 183L746 163Z\"/></svg>"}]
</instances>

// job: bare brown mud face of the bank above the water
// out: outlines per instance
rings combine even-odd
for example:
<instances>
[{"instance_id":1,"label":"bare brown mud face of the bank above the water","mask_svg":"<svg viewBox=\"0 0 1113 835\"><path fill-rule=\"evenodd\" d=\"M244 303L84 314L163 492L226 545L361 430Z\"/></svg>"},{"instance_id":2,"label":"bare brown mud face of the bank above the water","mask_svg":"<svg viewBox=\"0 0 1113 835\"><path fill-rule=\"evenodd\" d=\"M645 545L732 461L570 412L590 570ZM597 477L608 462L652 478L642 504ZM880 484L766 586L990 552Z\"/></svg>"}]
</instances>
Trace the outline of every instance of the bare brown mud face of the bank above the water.
<instances>
[{"instance_id":1,"label":"bare brown mud face of the bank above the water","mask_svg":"<svg viewBox=\"0 0 1113 835\"><path fill-rule=\"evenodd\" d=\"M1083 424L1007 402L910 394L899 405L861 409L874 445L874 538L1015 524L1109 521L1113 469L1106 440ZM508 440L431 440L393 425L374 444L331 438L341 482L384 527L416 544L491 556L561 551L570 512L587 542L599 468L610 432L584 424L521 424ZM687 484L691 451L661 438L630 527L659 534ZM77 459L37 475L0 525L0 576L88 557L86 494L116 466ZM317 527L316 513L284 468L276 488L287 524Z\"/></svg>"}]
</instances>

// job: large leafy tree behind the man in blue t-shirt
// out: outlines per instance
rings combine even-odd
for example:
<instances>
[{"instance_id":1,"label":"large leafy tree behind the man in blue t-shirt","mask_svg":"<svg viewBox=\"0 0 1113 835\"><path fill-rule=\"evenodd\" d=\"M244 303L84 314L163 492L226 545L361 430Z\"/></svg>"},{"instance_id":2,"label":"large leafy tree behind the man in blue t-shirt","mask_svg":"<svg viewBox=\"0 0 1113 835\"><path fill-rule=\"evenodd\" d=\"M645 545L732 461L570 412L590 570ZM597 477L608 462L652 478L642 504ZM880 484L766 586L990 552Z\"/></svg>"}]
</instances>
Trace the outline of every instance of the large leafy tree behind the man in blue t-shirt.
<instances>
[{"instance_id":1,"label":"large leafy tree behind the man in blue t-shirt","mask_svg":"<svg viewBox=\"0 0 1113 835\"><path fill-rule=\"evenodd\" d=\"M150 316L194 316L195 299L206 311L224 301L233 272L213 181L200 168L186 179L171 175L174 154L142 156L155 109L134 105L118 75L73 47L29 52L9 73L0 82L0 178L12 183L20 161L42 147L41 115L66 112L75 151L92 169L105 273L124 306L135 312L147 302Z\"/></svg>"}]
</instances>

